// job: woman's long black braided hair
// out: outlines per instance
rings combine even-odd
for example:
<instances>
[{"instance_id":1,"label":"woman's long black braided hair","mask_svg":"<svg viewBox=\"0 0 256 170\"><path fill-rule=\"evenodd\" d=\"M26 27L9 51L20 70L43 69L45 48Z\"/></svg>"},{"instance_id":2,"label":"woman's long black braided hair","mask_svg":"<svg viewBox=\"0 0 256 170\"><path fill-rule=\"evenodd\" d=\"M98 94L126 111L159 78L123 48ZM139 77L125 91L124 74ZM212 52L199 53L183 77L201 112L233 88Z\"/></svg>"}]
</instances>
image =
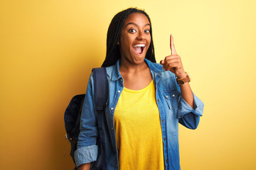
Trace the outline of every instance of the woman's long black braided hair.
<instances>
[{"instance_id":1,"label":"woman's long black braided hair","mask_svg":"<svg viewBox=\"0 0 256 170\"><path fill-rule=\"evenodd\" d=\"M151 35L151 42L149 45L149 49L146 52L146 59L150 60L151 62L156 62L156 58L154 55L154 44L152 40L152 27L148 14L146 14L145 11L142 11L137 8L127 8L124 11L120 11L114 16L114 18L112 18L110 26L107 30L107 54L105 61L102 64L102 67L109 67L114 65L117 62L117 60L119 60L119 58L121 57L117 41L119 40L119 36L121 34L124 21L131 13L143 13L146 16L146 18L148 18L151 28L149 31Z\"/></svg>"}]
</instances>

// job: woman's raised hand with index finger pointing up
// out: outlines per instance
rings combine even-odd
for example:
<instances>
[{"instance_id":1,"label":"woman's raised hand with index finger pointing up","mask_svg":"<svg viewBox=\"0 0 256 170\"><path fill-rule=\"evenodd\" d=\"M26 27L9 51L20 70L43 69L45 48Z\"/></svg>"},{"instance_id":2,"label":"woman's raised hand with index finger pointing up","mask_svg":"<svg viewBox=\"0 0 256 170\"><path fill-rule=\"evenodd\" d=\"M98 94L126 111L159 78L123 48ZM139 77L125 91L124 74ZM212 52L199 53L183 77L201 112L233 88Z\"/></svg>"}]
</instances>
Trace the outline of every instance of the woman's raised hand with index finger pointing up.
<instances>
[{"instance_id":1,"label":"woman's raised hand with index finger pointing up","mask_svg":"<svg viewBox=\"0 0 256 170\"><path fill-rule=\"evenodd\" d=\"M176 75L176 77L178 77L179 79L183 79L186 77L186 73L183 69L181 57L177 55L177 52L175 50L173 35L170 36L170 48L171 55L165 57L164 60L161 60L160 64L163 65L163 69L165 69L166 71L171 71Z\"/></svg>"}]
</instances>

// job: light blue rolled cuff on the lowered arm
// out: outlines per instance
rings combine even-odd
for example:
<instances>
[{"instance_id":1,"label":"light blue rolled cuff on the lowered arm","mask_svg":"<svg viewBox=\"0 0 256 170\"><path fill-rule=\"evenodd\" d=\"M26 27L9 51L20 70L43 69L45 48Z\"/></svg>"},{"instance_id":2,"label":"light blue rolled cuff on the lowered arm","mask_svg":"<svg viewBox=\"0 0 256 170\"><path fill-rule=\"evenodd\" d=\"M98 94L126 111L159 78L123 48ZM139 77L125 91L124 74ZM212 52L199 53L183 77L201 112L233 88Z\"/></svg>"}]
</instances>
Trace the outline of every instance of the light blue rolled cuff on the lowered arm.
<instances>
[{"instance_id":1,"label":"light blue rolled cuff on the lowered arm","mask_svg":"<svg viewBox=\"0 0 256 170\"><path fill-rule=\"evenodd\" d=\"M80 166L97 160L97 145L81 147L75 151L75 164Z\"/></svg>"}]
</instances>

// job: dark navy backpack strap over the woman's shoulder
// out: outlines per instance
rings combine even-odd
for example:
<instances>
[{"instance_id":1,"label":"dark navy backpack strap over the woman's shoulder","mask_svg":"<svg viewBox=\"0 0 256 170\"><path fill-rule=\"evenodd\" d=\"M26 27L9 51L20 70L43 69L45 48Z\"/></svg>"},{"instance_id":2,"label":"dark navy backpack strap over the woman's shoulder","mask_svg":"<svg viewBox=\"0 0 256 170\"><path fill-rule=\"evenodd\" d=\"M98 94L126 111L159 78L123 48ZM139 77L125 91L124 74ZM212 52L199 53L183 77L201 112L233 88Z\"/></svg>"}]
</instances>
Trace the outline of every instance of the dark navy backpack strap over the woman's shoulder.
<instances>
[{"instance_id":1,"label":"dark navy backpack strap over the woman's shoulder","mask_svg":"<svg viewBox=\"0 0 256 170\"><path fill-rule=\"evenodd\" d=\"M102 154L102 169L107 169L105 153L105 136L103 131L104 111L107 103L107 72L105 67L92 69L94 81L94 100L97 110L97 125L100 135L100 152Z\"/></svg>"}]
</instances>

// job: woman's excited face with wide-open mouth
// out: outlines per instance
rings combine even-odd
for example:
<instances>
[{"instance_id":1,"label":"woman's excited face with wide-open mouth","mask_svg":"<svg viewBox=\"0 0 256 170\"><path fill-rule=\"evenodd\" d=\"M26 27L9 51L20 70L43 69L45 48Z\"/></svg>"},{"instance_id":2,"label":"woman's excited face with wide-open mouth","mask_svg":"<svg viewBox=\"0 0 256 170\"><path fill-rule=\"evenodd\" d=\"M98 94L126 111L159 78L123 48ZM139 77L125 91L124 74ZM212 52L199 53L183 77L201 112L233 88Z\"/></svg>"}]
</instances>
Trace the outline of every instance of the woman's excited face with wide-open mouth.
<instances>
[{"instance_id":1,"label":"woman's excited face with wide-open mouth","mask_svg":"<svg viewBox=\"0 0 256 170\"><path fill-rule=\"evenodd\" d=\"M143 13L132 13L124 21L117 44L121 52L121 61L130 64L144 62L151 42L150 23Z\"/></svg>"}]
</instances>

